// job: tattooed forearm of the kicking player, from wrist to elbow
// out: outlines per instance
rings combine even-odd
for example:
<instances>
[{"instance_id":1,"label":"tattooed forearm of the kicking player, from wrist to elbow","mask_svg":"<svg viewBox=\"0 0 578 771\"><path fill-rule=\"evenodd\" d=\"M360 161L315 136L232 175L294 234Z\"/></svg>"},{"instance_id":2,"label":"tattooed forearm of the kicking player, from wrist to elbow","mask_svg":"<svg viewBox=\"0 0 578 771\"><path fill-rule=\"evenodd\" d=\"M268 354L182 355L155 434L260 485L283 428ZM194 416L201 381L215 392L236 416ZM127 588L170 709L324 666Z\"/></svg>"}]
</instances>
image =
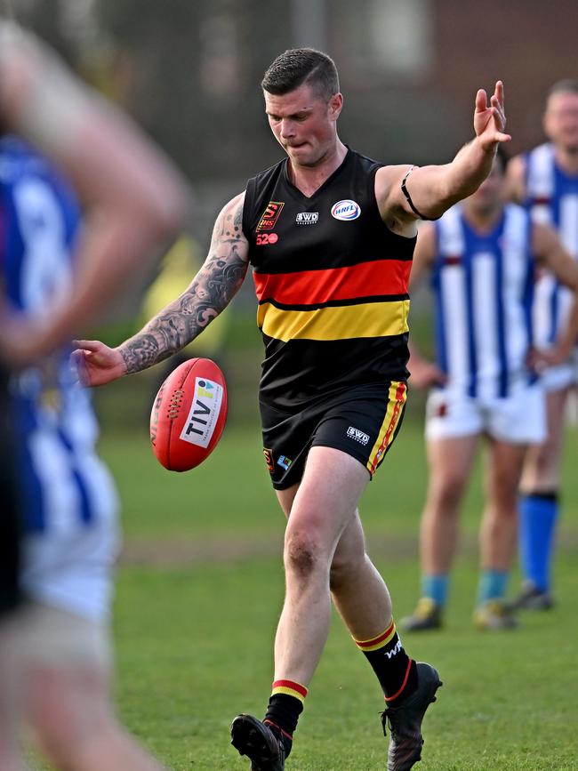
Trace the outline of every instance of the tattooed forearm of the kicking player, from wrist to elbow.
<instances>
[{"instance_id":1,"label":"tattooed forearm of the kicking player, from wrist to elbow","mask_svg":"<svg viewBox=\"0 0 578 771\"><path fill-rule=\"evenodd\" d=\"M178 300L167 305L132 338L118 346L126 373L140 372L184 348L203 332L237 293L247 264L240 257L210 258Z\"/></svg>"}]
</instances>

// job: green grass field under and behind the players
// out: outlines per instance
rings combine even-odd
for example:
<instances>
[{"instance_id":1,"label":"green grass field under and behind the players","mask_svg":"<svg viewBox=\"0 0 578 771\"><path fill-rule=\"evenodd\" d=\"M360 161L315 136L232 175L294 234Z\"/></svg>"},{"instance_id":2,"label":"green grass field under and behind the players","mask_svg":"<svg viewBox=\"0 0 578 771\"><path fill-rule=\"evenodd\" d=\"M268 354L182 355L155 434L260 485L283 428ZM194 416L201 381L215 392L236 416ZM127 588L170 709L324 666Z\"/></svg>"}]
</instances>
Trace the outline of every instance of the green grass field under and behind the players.
<instances>
[{"instance_id":1,"label":"green grass field under and behind the players","mask_svg":"<svg viewBox=\"0 0 578 771\"><path fill-rule=\"evenodd\" d=\"M446 629L404 637L410 655L435 663L444 680L425 721L423 771L578 769L575 436L568 442L558 606L526 615L515 632L472 629L476 478ZM283 518L259 430L230 426L211 458L186 474L163 470L144 433L106 430L101 449L124 501L115 621L121 715L174 771L247 769L229 746L229 723L237 711L264 709L283 597ZM425 482L421 426L410 419L362 505L368 550L397 617L417 597ZM288 768L385 768L381 691L337 619L307 702Z\"/></svg>"}]
</instances>

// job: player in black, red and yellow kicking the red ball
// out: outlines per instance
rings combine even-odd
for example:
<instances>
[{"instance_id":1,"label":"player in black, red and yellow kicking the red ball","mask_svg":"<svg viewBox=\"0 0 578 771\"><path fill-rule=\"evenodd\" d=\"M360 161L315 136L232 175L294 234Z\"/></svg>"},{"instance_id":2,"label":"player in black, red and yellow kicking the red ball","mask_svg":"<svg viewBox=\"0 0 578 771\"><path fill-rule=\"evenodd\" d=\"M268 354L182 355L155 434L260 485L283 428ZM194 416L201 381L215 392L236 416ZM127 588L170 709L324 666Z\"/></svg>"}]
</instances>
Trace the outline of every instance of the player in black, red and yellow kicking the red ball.
<instances>
[{"instance_id":1,"label":"player in black, red and yellow kicking the red ball","mask_svg":"<svg viewBox=\"0 0 578 771\"><path fill-rule=\"evenodd\" d=\"M285 605L261 721L233 720L232 743L257 771L281 771L329 630L331 600L386 700L390 771L420 759L421 720L438 672L405 652L389 591L365 552L357 504L399 430L407 371L407 282L416 221L438 217L490 172L503 133L502 83L476 97L476 138L450 164L383 166L337 134L337 70L287 51L262 89L287 158L253 177L219 214L188 290L116 349L80 341L84 380L99 385L154 365L201 333L249 265L265 343L264 454L287 517Z\"/></svg>"}]
</instances>

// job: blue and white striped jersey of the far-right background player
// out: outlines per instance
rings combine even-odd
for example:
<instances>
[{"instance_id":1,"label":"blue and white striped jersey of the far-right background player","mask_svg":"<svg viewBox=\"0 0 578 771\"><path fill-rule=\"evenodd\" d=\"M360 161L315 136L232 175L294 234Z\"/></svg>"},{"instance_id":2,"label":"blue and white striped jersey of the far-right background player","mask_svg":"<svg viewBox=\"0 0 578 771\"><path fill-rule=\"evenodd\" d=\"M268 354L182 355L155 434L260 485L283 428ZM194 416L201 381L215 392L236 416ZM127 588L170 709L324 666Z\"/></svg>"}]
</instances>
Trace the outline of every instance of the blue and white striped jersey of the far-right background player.
<instances>
[{"instance_id":1,"label":"blue and white striped jersey of the far-right background player","mask_svg":"<svg viewBox=\"0 0 578 771\"><path fill-rule=\"evenodd\" d=\"M550 143L526 154L525 206L536 222L551 224L562 243L578 260L578 175L569 176L556 164ZM572 293L550 273L538 278L534 299L534 340L547 347L557 337L572 304Z\"/></svg>"}]
</instances>

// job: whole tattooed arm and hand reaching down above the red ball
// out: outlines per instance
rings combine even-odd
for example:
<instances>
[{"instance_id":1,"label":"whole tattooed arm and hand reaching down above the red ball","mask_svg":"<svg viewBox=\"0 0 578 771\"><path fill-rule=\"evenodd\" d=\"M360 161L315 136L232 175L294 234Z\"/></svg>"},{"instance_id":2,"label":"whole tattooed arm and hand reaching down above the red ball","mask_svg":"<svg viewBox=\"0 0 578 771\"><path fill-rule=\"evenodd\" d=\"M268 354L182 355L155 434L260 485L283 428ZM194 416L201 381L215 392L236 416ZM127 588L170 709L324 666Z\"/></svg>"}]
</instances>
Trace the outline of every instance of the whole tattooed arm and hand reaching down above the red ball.
<instances>
[{"instance_id":1,"label":"whole tattooed arm and hand reaching down above the red ball","mask_svg":"<svg viewBox=\"0 0 578 771\"><path fill-rule=\"evenodd\" d=\"M73 360L84 385L103 385L173 356L229 305L248 267L248 244L241 228L244 201L241 193L222 209L209 255L197 276L139 333L115 349L100 341L76 341Z\"/></svg>"}]
</instances>

